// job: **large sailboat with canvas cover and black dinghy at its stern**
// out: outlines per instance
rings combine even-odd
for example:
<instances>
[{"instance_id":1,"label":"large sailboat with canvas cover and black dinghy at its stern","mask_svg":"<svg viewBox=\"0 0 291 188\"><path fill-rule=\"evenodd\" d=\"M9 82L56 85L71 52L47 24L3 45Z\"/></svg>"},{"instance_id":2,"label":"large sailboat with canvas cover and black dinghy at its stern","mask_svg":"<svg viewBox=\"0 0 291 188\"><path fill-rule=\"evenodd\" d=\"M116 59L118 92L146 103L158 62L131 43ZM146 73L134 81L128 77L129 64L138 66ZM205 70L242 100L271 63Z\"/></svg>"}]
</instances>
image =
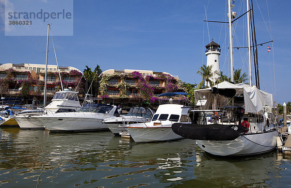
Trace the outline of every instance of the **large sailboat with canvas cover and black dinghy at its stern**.
<instances>
[{"instance_id":1,"label":"large sailboat with canvas cover and black dinghy at its stern","mask_svg":"<svg viewBox=\"0 0 291 188\"><path fill-rule=\"evenodd\" d=\"M233 15L232 7L228 0L228 15ZM232 16L228 17L233 81ZM249 74L251 78L251 71ZM195 140L202 150L217 156L245 156L275 149L278 121L273 95L252 86L251 79L250 85L224 81L212 88L196 90L195 103L192 124L175 123L172 129Z\"/></svg>"}]
</instances>

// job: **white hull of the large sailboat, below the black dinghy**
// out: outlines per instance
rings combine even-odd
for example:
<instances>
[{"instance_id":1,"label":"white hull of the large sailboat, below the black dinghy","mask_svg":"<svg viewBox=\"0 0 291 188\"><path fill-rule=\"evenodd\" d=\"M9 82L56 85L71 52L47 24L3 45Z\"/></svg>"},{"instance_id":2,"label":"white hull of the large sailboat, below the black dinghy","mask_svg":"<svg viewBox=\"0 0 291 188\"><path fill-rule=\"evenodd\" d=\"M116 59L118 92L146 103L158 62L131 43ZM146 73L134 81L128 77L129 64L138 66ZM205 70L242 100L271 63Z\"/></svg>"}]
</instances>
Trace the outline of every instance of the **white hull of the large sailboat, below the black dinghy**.
<instances>
[{"instance_id":1,"label":"white hull of the large sailboat, below the black dinghy","mask_svg":"<svg viewBox=\"0 0 291 188\"><path fill-rule=\"evenodd\" d=\"M201 141L197 145L217 156L244 156L269 152L276 147L277 131L240 136L233 141Z\"/></svg>"}]
</instances>

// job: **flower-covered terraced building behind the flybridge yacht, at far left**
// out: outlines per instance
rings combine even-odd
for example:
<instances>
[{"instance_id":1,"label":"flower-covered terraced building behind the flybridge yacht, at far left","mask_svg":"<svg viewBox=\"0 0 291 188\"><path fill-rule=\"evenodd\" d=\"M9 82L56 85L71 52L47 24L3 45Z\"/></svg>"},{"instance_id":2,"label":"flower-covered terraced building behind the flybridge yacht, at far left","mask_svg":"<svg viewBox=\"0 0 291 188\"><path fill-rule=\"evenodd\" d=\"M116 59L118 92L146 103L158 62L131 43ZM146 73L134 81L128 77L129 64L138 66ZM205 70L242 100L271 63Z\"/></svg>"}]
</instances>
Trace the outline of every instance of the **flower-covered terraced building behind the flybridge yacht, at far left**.
<instances>
[{"instance_id":1,"label":"flower-covered terraced building behind the flybridge yacht, at far left","mask_svg":"<svg viewBox=\"0 0 291 188\"><path fill-rule=\"evenodd\" d=\"M82 88L82 73L74 67L59 67L57 65L48 65L47 69L47 96L48 101L52 99L55 91L61 88L61 79L64 88L71 87L75 89ZM45 64L31 63L6 63L0 65L0 94L1 97L22 98L25 104L32 104L33 100L38 103L43 102L45 86Z\"/></svg>"}]
</instances>

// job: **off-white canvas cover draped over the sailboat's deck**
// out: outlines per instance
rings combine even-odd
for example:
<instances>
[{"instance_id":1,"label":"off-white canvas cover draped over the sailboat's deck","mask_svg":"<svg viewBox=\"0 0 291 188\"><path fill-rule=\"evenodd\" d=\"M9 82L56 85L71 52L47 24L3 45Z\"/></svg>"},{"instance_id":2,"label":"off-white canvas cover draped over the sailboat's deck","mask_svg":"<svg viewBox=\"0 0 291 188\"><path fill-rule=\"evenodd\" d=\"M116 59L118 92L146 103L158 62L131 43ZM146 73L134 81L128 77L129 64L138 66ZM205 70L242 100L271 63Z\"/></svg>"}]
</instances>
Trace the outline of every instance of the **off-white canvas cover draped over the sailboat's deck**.
<instances>
[{"instance_id":1,"label":"off-white canvas cover draped over the sailboat's deck","mask_svg":"<svg viewBox=\"0 0 291 188\"><path fill-rule=\"evenodd\" d=\"M218 89L235 89L236 94L243 94L244 109L246 112L256 113L263 110L264 106L273 107L273 95L259 90L256 86L250 86L244 83L232 84L227 81L221 82L213 87ZM211 93L211 88L195 90L195 102L198 100L207 99L205 109L212 107L214 94ZM222 95L216 95L217 103L220 106L226 106L229 102L228 98ZM197 104L199 105L199 104Z\"/></svg>"}]
</instances>

